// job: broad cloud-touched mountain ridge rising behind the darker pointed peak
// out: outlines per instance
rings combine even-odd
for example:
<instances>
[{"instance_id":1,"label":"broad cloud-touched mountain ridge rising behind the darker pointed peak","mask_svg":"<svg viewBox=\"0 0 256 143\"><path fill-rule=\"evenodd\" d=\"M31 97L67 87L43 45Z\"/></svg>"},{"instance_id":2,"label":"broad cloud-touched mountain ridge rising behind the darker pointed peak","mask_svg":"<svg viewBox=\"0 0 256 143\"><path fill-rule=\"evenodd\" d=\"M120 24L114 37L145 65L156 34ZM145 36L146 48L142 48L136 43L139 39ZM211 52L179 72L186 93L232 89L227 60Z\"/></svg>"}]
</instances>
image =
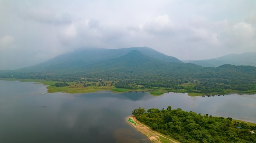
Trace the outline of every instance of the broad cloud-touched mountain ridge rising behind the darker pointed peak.
<instances>
[{"instance_id":1,"label":"broad cloud-touched mountain ridge rising behind the darker pointed peak","mask_svg":"<svg viewBox=\"0 0 256 143\"><path fill-rule=\"evenodd\" d=\"M104 48L79 48L73 52L68 52L56 56L44 63L40 63L35 66L25 67L18 69L20 72L43 72L43 71L55 71L62 69L73 69L79 67L85 67L101 61L106 61L112 58L119 58L131 52L137 50L146 56L158 59L165 62L183 63L173 56L167 56L163 53L157 52L148 47L133 47L133 48L120 48L120 49L104 49Z\"/></svg>"}]
</instances>

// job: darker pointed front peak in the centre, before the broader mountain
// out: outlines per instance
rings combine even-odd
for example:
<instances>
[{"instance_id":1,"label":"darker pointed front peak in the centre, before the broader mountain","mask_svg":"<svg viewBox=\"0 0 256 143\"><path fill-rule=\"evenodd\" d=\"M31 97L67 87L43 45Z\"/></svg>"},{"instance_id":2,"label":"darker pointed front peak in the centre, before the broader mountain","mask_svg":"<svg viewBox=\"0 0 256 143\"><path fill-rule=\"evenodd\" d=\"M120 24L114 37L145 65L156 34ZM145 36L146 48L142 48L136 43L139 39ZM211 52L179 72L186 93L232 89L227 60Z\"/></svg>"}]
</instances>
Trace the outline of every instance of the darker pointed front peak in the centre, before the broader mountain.
<instances>
[{"instance_id":1,"label":"darker pointed front peak in the centre, before the broader mountain","mask_svg":"<svg viewBox=\"0 0 256 143\"><path fill-rule=\"evenodd\" d=\"M108 77L131 78L133 75L160 75L160 74L173 74L173 75L189 75L191 73L200 73L201 71L208 71L207 68L200 65L191 63L176 63L161 61L156 58L152 58L139 52L138 50L132 50L129 53L119 58L112 58L106 61L100 61L98 63L78 67L75 69L76 76L82 75L108 75ZM63 73L60 73L63 74ZM64 75L72 76L74 73L65 72ZM115 76L113 76L115 75Z\"/></svg>"}]
</instances>

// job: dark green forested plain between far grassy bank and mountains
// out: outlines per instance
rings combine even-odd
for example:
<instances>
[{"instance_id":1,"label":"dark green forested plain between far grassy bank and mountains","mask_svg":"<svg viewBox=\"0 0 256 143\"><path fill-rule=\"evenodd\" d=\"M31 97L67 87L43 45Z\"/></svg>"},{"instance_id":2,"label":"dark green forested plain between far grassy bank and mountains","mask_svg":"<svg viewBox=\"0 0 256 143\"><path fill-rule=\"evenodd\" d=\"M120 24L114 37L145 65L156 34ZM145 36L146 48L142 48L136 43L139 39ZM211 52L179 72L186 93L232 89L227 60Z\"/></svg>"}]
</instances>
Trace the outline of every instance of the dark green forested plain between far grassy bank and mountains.
<instances>
[{"instance_id":1,"label":"dark green forested plain between far grassy bank and mountains","mask_svg":"<svg viewBox=\"0 0 256 143\"><path fill-rule=\"evenodd\" d=\"M177 64L177 63L176 63ZM170 71L131 72L129 69L74 74L46 74L43 72L5 72L0 78L43 79L57 82L84 82L93 84L100 80L112 81L116 88L124 89L165 89L167 91L193 92L202 94L226 94L229 92L255 93L256 67L222 65L217 68L197 67L192 71L189 66L178 63L179 67ZM186 70L187 68L187 70ZM115 84L114 84L115 83ZM98 85L99 83L97 83ZM59 84L61 85L61 84ZM58 86L58 85L56 85ZM62 86L62 85L61 85ZM104 86L104 85L102 85Z\"/></svg>"}]
</instances>

